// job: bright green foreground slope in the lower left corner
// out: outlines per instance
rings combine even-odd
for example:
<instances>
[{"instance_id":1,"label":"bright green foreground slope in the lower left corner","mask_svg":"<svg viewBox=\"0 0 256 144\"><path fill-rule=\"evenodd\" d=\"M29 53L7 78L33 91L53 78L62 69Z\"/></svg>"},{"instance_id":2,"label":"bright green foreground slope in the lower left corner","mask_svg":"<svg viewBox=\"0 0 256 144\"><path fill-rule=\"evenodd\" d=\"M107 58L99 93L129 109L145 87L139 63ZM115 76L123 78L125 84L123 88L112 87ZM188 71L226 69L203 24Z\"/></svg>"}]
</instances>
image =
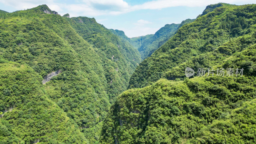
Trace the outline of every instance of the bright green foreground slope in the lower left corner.
<instances>
[{"instance_id":1,"label":"bright green foreground slope in the lower left corner","mask_svg":"<svg viewBox=\"0 0 256 144\"><path fill-rule=\"evenodd\" d=\"M27 65L0 59L0 111L1 144L85 142L74 120L46 96L42 77Z\"/></svg>"}]
</instances>

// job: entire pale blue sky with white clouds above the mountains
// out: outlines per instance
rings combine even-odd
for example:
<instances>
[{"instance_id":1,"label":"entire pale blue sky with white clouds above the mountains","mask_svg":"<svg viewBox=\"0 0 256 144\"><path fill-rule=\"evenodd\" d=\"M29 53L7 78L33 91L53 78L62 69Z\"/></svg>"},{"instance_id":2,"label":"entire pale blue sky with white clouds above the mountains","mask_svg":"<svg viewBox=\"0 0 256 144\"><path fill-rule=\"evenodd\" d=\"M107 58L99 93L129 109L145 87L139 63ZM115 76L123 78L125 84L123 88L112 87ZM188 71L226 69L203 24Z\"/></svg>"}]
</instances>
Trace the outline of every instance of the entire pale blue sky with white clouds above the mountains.
<instances>
[{"instance_id":1,"label":"entire pale blue sky with white clouds above the mountains","mask_svg":"<svg viewBox=\"0 0 256 144\"><path fill-rule=\"evenodd\" d=\"M128 37L154 34L165 24L194 19L209 4L255 4L255 0L0 0L0 9L14 12L47 4L60 15L94 17Z\"/></svg>"}]
</instances>

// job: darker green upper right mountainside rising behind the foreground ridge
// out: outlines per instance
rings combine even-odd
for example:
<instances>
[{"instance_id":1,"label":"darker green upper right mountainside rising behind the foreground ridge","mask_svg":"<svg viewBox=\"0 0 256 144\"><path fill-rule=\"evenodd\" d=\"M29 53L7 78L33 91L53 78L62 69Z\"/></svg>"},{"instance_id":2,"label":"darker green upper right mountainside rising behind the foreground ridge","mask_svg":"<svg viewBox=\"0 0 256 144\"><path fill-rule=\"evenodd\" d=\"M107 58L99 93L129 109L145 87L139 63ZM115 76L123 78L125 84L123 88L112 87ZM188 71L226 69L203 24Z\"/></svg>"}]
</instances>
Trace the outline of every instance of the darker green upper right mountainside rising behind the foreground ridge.
<instances>
[{"instance_id":1,"label":"darker green upper right mountainside rising behind the foreground ridge","mask_svg":"<svg viewBox=\"0 0 256 144\"><path fill-rule=\"evenodd\" d=\"M144 87L160 78L184 78L186 67L212 68L236 52L253 49L250 46L255 43L255 7L255 4L218 7L182 26L170 40L140 63L129 87ZM239 55L236 57L243 59ZM231 64L231 60L228 61ZM242 63L252 75L255 64Z\"/></svg>"}]
</instances>

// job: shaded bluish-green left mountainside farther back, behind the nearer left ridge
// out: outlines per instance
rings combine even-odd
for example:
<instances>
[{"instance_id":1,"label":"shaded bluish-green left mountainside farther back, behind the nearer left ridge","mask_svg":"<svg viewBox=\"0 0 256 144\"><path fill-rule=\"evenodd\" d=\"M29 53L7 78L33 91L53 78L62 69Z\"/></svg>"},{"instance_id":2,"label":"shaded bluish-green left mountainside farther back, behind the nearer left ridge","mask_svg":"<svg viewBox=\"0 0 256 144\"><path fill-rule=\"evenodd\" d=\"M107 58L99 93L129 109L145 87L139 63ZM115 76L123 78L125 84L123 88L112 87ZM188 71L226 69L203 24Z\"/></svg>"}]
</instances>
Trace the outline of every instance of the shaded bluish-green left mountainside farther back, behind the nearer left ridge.
<instances>
[{"instance_id":1,"label":"shaded bluish-green left mountainside farther back, behind the nearer left ridge","mask_svg":"<svg viewBox=\"0 0 256 144\"><path fill-rule=\"evenodd\" d=\"M107 79L107 94L112 103L127 89L130 76L140 63L140 54L126 40L113 35L94 18L66 18L71 27L92 45L100 56Z\"/></svg>"}]
</instances>

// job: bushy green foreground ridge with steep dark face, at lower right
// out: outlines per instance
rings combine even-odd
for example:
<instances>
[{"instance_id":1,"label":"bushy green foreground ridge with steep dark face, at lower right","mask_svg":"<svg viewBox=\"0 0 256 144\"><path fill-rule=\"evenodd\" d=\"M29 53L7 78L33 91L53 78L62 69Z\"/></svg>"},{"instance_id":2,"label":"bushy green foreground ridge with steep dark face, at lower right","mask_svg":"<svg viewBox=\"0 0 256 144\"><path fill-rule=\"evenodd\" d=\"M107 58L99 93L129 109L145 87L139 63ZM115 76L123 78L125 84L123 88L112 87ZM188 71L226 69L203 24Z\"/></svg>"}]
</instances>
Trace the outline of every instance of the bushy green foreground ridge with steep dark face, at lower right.
<instances>
[{"instance_id":1,"label":"bushy green foreground ridge with steep dark face, at lower right","mask_svg":"<svg viewBox=\"0 0 256 144\"><path fill-rule=\"evenodd\" d=\"M255 77L166 79L123 92L102 143L255 143Z\"/></svg>"}]
</instances>

